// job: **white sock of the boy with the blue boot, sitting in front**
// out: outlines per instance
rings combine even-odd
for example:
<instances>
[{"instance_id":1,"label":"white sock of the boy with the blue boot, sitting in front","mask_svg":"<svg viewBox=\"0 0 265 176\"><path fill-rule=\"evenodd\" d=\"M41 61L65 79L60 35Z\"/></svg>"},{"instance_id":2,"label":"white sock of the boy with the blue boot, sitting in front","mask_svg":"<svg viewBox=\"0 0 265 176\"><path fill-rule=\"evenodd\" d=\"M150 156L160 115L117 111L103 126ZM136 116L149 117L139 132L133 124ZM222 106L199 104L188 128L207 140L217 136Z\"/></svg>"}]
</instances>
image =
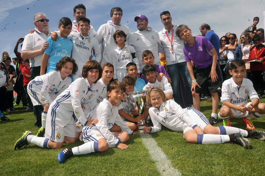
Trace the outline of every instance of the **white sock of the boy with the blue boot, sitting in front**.
<instances>
[{"instance_id":1,"label":"white sock of the boy with the blue boot, sitting in front","mask_svg":"<svg viewBox=\"0 0 265 176\"><path fill-rule=\"evenodd\" d=\"M94 141L89 141L89 142L82 144L78 147L72 148L72 152L74 155L83 155L83 154L87 154L87 153L98 152L98 143L94 142Z\"/></svg>"}]
</instances>

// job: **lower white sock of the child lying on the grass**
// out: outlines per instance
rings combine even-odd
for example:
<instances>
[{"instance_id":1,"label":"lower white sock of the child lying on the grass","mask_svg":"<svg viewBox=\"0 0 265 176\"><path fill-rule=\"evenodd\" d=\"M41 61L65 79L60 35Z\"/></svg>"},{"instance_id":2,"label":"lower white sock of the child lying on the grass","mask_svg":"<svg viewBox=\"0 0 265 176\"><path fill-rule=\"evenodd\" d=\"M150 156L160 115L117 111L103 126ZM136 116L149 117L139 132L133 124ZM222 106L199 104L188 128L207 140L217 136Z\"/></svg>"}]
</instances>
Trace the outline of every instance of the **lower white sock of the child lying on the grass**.
<instances>
[{"instance_id":1,"label":"lower white sock of the child lying on the grass","mask_svg":"<svg viewBox=\"0 0 265 176\"><path fill-rule=\"evenodd\" d=\"M229 141L230 138L228 135L212 135L212 134L197 135L197 144L221 144Z\"/></svg>"}]
</instances>

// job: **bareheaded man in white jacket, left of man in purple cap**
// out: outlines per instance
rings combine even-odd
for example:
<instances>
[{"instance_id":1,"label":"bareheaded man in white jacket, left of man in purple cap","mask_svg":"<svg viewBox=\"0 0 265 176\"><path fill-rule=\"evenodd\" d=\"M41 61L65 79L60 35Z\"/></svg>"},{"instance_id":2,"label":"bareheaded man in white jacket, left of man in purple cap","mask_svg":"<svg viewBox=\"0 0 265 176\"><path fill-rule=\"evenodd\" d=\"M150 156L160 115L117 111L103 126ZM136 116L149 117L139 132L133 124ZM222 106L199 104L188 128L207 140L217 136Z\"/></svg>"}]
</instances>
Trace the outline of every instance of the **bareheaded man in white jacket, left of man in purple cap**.
<instances>
[{"instance_id":1,"label":"bareheaded man in white jacket, left of man in purple cap","mask_svg":"<svg viewBox=\"0 0 265 176\"><path fill-rule=\"evenodd\" d=\"M101 44L101 65L106 62L112 63L111 53L118 46L112 36L114 32L117 30L122 30L127 35L127 40L131 34L130 29L127 26L120 24L122 17L122 9L120 7L113 7L110 11L110 17L112 20L109 20L106 24L102 24L95 36L98 43ZM127 41L125 44L127 44Z\"/></svg>"}]
</instances>

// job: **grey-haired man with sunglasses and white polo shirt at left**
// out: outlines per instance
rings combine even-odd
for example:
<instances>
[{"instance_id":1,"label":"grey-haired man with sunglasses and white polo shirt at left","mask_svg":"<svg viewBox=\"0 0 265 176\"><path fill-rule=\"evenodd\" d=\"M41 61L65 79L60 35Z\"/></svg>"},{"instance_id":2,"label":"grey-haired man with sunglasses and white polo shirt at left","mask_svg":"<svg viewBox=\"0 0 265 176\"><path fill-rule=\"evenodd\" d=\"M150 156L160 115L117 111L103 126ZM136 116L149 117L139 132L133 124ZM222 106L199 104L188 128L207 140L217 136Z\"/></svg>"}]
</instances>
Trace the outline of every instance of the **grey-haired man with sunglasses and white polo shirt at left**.
<instances>
[{"instance_id":1,"label":"grey-haired man with sunglasses and white polo shirt at left","mask_svg":"<svg viewBox=\"0 0 265 176\"><path fill-rule=\"evenodd\" d=\"M37 13L34 15L34 33L29 33L25 36L23 41L23 46L21 48L21 58L29 59L30 66L30 79L34 79L36 76L40 75L40 66L42 61L42 55L46 48L48 48L49 43L47 43L47 38L51 35L49 31L49 19L43 13ZM40 127L42 126L41 114L42 105L34 106L34 116L36 117L36 122L34 125Z\"/></svg>"}]
</instances>

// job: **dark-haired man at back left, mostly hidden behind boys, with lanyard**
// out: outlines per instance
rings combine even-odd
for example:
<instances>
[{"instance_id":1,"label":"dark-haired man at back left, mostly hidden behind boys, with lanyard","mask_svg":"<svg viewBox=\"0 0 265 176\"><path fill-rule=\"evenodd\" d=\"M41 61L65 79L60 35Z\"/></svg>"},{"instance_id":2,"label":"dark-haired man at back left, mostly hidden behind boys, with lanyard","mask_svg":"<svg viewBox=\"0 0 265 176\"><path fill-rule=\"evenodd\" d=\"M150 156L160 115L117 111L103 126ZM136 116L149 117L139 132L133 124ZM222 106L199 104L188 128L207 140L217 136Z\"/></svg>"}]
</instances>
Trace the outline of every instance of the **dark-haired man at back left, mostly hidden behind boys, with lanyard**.
<instances>
[{"instance_id":1,"label":"dark-haired man at back left, mostly hidden behind boys, with lanyard","mask_svg":"<svg viewBox=\"0 0 265 176\"><path fill-rule=\"evenodd\" d=\"M78 27L78 21L77 17L78 16L83 16L86 17L86 7L83 4L78 4L74 6L74 18L75 20L72 22L72 32L80 32L79 27ZM93 26L90 25L90 30L88 31L88 35L95 37L96 31Z\"/></svg>"}]
</instances>

